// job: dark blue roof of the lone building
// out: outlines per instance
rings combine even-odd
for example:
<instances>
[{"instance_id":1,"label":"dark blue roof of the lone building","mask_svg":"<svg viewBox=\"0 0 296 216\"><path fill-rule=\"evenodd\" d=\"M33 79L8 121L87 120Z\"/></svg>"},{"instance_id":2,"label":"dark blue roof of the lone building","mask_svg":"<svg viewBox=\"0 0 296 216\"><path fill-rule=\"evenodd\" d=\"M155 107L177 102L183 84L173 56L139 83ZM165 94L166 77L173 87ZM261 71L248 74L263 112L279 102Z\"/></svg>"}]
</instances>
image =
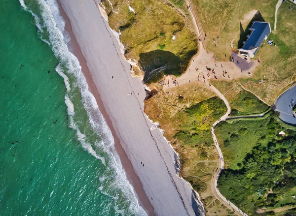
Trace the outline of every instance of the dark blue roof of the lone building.
<instances>
[{"instance_id":1,"label":"dark blue roof of the lone building","mask_svg":"<svg viewBox=\"0 0 296 216\"><path fill-rule=\"evenodd\" d=\"M252 31L251 35L241 49L252 50L254 48L258 48L265 37L267 37L271 32L270 25L266 22L254 22L249 30Z\"/></svg>"}]
</instances>

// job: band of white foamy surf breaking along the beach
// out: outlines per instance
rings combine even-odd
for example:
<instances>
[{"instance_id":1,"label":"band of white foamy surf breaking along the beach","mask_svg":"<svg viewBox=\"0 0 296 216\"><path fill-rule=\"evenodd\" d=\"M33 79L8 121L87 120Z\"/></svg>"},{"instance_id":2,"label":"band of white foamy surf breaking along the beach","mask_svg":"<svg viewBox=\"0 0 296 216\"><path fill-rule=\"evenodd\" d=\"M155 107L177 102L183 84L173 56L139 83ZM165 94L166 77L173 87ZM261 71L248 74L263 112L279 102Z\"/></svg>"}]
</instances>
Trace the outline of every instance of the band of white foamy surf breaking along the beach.
<instances>
[{"instance_id":1,"label":"band of white foamy surf breaking along the beach","mask_svg":"<svg viewBox=\"0 0 296 216\"><path fill-rule=\"evenodd\" d=\"M95 97L88 91L88 85L81 71L81 66L77 58L68 49L67 43L70 41L70 37L65 31L65 21L60 15L57 2L55 0L38 0L37 2L39 10L32 12L30 5L27 6L24 0L20 0L23 8L34 16L36 26L41 32L40 38L51 47L60 62L56 67L56 71L64 78L67 90L65 103L70 117L70 126L76 131L82 148L95 158L100 159L106 166L107 174L111 174L111 176L104 174L104 178L100 178L102 185L98 189L115 200L116 205L113 208L117 214L147 215L139 205L134 189L126 178L119 156L114 150L114 139L111 130L98 108ZM74 91L77 89L82 98L82 105L87 111L89 123L100 137L100 140L96 142L89 142L85 133L80 131L79 122L74 121L75 115L78 115L75 113L73 103L75 96L77 96ZM104 150L103 153L99 151L102 149ZM107 157L105 156L106 153ZM119 194L118 191L121 191L122 194ZM126 203L127 201L128 203Z\"/></svg>"}]
</instances>

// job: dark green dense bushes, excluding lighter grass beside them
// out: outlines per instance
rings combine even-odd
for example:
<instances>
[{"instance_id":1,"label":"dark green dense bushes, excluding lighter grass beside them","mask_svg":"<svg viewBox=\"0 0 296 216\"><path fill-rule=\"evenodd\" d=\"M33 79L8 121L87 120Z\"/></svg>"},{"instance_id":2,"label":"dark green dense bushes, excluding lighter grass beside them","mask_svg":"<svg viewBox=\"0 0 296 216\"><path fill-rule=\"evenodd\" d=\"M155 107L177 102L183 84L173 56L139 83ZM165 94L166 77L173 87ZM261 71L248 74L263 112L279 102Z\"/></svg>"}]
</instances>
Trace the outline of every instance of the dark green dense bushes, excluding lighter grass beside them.
<instances>
[{"instance_id":1,"label":"dark green dense bushes, excluding lighter grass beside them","mask_svg":"<svg viewBox=\"0 0 296 216\"><path fill-rule=\"evenodd\" d=\"M221 193L249 214L256 214L262 207L274 207L283 194L296 186L296 132L286 129L288 136L279 136L277 131L281 126L275 118L276 115L271 115L267 125L271 141L265 146L257 143L239 164L240 169L224 170L218 181ZM237 136L233 133L230 139ZM224 140L224 146L230 142ZM272 193L265 195L268 189ZM291 204L296 201L278 205Z\"/></svg>"}]
</instances>

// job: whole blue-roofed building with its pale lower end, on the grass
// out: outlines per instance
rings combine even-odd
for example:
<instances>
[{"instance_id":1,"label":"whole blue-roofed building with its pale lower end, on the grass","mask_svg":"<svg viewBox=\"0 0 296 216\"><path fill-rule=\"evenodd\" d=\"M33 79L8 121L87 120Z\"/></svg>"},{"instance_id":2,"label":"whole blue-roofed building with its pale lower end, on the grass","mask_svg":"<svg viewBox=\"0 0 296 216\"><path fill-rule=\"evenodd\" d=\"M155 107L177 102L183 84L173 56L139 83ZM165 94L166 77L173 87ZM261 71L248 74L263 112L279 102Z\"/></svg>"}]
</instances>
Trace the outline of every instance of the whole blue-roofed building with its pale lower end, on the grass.
<instances>
[{"instance_id":1,"label":"whole blue-roofed building with its pale lower end, on the grass","mask_svg":"<svg viewBox=\"0 0 296 216\"><path fill-rule=\"evenodd\" d=\"M243 42L243 47L238 49L244 57L254 58L263 40L266 40L271 32L270 24L267 22L254 22L249 29L251 33L247 35L247 40Z\"/></svg>"}]
</instances>

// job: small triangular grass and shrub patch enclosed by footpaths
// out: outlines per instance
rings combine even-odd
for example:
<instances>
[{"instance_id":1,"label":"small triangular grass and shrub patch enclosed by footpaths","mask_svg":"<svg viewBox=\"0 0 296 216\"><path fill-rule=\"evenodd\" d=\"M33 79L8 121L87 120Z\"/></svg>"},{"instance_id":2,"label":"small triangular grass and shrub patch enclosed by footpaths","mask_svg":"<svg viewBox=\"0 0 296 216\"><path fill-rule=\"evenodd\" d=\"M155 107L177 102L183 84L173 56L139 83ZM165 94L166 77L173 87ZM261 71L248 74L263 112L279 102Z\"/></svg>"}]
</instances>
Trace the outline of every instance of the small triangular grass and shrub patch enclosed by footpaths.
<instances>
[{"instance_id":1,"label":"small triangular grass and shrub patch enclosed by footpaths","mask_svg":"<svg viewBox=\"0 0 296 216\"><path fill-rule=\"evenodd\" d=\"M235 81L212 80L211 83L226 97L231 107L231 116L242 116L262 113L269 106L254 94L247 92Z\"/></svg>"}]
</instances>

